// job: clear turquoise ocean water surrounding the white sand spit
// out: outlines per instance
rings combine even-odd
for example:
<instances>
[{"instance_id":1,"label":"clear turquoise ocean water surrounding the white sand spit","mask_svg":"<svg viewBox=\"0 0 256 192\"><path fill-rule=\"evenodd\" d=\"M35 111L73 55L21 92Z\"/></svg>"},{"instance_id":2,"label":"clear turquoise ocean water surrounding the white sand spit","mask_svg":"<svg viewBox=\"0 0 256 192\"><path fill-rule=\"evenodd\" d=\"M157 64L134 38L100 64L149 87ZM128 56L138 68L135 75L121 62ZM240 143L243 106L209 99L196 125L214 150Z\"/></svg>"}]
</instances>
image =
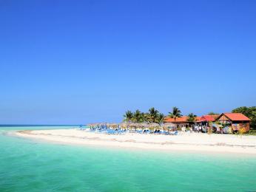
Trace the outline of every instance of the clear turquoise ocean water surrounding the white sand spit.
<instances>
[{"instance_id":1,"label":"clear turquoise ocean water surrounding the white sand spit","mask_svg":"<svg viewBox=\"0 0 256 192\"><path fill-rule=\"evenodd\" d=\"M13 137L0 127L0 191L256 191L256 157L121 150Z\"/></svg>"}]
</instances>

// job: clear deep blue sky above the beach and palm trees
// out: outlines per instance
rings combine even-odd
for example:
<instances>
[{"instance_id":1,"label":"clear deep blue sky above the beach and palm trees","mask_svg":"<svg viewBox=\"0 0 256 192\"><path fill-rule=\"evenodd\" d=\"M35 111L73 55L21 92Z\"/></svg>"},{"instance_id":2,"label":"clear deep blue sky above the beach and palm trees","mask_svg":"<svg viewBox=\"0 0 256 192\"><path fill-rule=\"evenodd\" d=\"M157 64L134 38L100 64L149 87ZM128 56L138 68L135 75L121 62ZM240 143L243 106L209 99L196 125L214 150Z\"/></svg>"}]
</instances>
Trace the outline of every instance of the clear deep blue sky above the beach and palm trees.
<instances>
[{"instance_id":1,"label":"clear deep blue sky above the beach and palm trees","mask_svg":"<svg viewBox=\"0 0 256 192\"><path fill-rule=\"evenodd\" d=\"M0 124L256 104L256 1L0 0Z\"/></svg>"}]
</instances>

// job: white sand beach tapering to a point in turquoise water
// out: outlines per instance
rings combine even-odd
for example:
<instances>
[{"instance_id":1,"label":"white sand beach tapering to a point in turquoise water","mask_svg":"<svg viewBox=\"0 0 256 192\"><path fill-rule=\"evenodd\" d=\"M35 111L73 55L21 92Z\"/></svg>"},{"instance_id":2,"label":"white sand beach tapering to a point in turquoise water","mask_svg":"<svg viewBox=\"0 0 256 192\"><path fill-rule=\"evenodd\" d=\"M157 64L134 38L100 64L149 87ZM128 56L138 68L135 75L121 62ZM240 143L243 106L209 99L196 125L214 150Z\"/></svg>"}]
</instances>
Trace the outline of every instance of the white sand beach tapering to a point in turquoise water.
<instances>
[{"instance_id":1,"label":"white sand beach tapering to a point in turquoise water","mask_svg":"<svg viewBox=\"0 0 256 192\"><path fill-rule=\"evenodd\" d=\"M17 131L19 137L47 140L75 145L99 145L119 148L144 148L164 151L208 151L256 154L255 136L232 134L181 133L178 135L102 134L78 129Z\"/></svg>"}]
</instances>

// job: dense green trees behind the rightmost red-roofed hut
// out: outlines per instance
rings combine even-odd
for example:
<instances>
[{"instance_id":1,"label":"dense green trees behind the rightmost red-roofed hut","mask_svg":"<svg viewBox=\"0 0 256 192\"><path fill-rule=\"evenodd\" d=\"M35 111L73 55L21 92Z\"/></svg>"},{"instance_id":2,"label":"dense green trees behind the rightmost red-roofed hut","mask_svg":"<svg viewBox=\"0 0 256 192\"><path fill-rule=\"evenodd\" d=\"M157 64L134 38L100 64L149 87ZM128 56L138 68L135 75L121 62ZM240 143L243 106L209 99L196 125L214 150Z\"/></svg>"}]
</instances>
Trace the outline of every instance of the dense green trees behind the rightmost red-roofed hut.
<instances>
[{"instance_id":1,"label":"dense green trees behind the rightmost red-roofed hut","mask_svg":"<svg viewBox=\"0 0 256 192\"><path fill-rule=\"evenodd\" d=\"M249 117L252 120L251 129L256 130L256 106L252 106L252 107L241 106L241 107L238 107L237 109L233 109L232 112L242 113L246 117Z\"/></svg>"}]
</instances>

